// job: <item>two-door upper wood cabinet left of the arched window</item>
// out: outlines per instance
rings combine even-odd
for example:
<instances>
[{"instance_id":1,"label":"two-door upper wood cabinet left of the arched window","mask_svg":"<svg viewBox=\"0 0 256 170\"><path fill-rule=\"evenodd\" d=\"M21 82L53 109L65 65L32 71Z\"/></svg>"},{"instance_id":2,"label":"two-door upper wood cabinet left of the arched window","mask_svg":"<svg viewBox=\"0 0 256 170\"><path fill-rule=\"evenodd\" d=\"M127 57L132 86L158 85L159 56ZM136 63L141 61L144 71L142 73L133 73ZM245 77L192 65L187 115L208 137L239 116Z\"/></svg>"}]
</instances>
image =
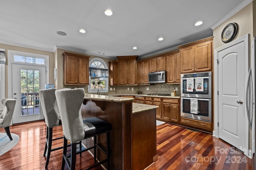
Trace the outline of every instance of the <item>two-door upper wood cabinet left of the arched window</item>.
<instances>
[{"instance_id":1,"label":"two-door upper wood cabinet left of the arched window","mask_svg":"<svg viewBox=\"0 0 256 170\"><path fill-rule=\"evenodd\" d=\"M64 52L64 85L89 84L89 56Z\"/></svg>"}]
</instances>

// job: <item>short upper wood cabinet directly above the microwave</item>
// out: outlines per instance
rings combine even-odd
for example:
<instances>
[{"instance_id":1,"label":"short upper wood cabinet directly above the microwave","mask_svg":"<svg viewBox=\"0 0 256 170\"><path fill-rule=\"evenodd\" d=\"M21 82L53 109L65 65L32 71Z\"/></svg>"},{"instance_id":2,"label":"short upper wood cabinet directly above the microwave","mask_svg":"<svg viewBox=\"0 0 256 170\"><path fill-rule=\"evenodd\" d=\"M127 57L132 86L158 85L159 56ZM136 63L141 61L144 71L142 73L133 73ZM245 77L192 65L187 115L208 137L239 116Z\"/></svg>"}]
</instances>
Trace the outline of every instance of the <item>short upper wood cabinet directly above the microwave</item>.
<instances>
[{"instance_id":1,"label":"short upper wood cabinet directly above the microwave","mask_svg":"<svg viewBox=\"0 0 256 170\"><path fill-rule=\"evenodd\" d=\"M165 55L154 57L149 60L149 72L165 71Z\"/></svg>"}]
</instances>

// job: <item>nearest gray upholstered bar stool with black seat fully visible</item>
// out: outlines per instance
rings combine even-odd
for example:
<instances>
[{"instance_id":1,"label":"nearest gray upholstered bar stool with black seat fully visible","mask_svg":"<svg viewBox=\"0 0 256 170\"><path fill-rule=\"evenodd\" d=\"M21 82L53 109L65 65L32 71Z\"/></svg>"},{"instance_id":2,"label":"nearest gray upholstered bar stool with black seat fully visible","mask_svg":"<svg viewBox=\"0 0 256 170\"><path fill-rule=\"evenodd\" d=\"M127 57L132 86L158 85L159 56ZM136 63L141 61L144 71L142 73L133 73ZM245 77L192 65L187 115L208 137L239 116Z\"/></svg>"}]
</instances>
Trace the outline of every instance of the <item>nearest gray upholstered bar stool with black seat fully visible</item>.
<instances>
[{"instance_id":1,"label":"nearest gray upholstered bar stool with black seat fully visible","mask_svg":"<svg viewBox=\"0 0 256 170\"><path fill-rule=\"evenodd\" d=\"M68 168L74 170L76 168L76 143L94 137L94 146L81 150L84 152L90 149L94 149L94 164L86 168L89 170L100 164L108 162L108 170L110 170L110 131L111 124L99 119L98 117L92 117L88 119L82 119L81 105L84 100L84 90L78 89L62 89L56 90L56 99L60 109L60 116L62 119L62 129L64 134L63 144L63 158L62 167L64 169L65 162ZM97 136L103 133L107 133L107 148L104 150L100 145L96 143ZM67 143L71 143L71 155L67 155ZM106 154L106 159L96 162L96 148L99 148ZM71 160L68 157L71 156Z\"/></svg>"}]
</instances>

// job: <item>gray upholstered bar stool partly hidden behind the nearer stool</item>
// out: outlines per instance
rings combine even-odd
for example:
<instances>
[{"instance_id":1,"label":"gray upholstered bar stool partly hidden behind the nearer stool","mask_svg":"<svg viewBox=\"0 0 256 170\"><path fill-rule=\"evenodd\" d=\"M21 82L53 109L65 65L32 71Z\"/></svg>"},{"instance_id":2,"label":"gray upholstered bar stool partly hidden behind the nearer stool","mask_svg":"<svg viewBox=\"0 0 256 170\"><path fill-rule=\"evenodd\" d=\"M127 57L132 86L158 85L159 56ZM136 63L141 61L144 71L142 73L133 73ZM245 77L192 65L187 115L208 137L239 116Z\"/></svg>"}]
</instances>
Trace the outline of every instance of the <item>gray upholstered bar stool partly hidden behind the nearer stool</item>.
<instances>
[{"instance_id":1,"label":"gray upholstered bar stool partly hidden behind the nearer stool","mask_svg":"<svg viewBox=\"0 0 256 170\"><path fill-rule=\"evenodd\" d=\"M61 126L61 118L57 109L57 101L55 96L55 88L39 90L40 104L44 113L44 119L46 123L46 141L44 147L44 156L46 156L45 168L48 167L50 160L51 151L62 149L63 147L58 147L52 149L52 141L62 139L63 137L52 139L52 128L56 126ZM82 143L80 143L80 150L82 148Z\"/></svg>"}]
</instances>

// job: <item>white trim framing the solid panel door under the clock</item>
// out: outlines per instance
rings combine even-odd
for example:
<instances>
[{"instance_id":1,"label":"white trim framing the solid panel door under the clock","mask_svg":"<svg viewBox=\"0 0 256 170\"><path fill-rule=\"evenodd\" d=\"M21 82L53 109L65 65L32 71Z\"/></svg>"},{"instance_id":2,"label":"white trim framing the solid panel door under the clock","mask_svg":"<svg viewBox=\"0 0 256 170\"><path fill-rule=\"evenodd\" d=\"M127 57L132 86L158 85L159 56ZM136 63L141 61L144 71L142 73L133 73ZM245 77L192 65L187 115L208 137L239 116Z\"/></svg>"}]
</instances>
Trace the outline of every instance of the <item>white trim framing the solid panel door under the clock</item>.
<instances>
[{"instance_id":1,"label":"white trim framing the solid panel door under the clock","mask_svg":"<svg viewBox=\"0 0 256 170\"><path fill-rule=\"evenodd\" d=\"M225 44L221 47L218 47L217 49L214 49L214 131L213 131L213 136L216 137L216 138L219 138L219 132L218 132L218 121L219 121L219 113L218 113L218 52L224 50L224 49L227 49L235 44L238 44L238 43L241 43L241 42L244 42L244 56L245 56L245 59L244 59L244 69L245 69L245 72L248 72L248 69L249 69L249 62L248 62L248 58L249 58L249 34L246 34L228 44ZM245 80L247 77L245 77ZM246 86L244 88L244 93L246 92ZM246 108L244 107L244 113L246 113ZM248 127L248 118L247 118L247 115L245 116L245 127ZM249 129L246 128L246 133L245 134L245 143L249 143ZM251 154L251 150L249 150L249 145L247 146L247 154L246 156L249 156L249 157L252 157Z\"/></svg>"}]
</instances>

